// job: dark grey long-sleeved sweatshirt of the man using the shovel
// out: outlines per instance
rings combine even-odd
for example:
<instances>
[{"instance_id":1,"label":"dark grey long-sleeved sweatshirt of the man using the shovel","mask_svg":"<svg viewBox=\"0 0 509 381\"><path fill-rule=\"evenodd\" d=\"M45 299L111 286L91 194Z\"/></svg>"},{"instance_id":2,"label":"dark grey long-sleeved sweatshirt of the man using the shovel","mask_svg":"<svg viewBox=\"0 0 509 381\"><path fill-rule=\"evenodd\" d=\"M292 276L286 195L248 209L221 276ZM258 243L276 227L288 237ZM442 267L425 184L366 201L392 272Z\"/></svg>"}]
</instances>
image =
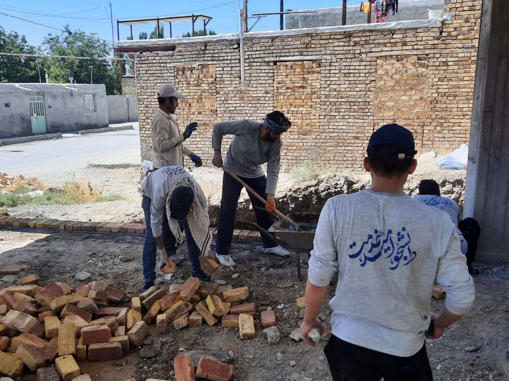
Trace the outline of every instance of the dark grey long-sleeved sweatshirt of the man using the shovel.
<instances>
[{"instance_id":1,"label":"dark grey long-sleeved sweatshirt of the man using the shovel","mask_svg":"<svg viewBox=\"0 0 509 381\"><path fill-rule=\"evenodd\" d=\"M261 164L267 164L267 193L276 193L281 159L281 139L274 143L260 139L260 127L263 124L255 120L235 120L214 124L212 148L221 148L224 135L235 135L224 166L241 177L264 176Z\"/></svg>"}]
</instances>

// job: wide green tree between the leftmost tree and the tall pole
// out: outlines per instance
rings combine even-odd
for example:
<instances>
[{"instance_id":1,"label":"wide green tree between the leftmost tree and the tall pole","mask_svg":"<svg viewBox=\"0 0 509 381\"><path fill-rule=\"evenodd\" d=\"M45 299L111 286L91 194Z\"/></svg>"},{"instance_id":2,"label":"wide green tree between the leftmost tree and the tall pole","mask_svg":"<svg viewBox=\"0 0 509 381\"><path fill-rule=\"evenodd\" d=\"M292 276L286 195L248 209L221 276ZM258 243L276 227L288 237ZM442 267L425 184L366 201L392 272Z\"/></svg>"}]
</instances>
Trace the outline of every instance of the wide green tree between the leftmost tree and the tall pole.
<instances>
[{"instance_id":1,"label":"wide green tree between the leftmost tree and the tall pole","mask_svg":"<svg viewBox=\"0 0 509 381\"><path fill-rule=\"evenodd\" d=\"M42 47L47 54L84 57L109 57L109 42L86 36L81 30L71 31L66 25L60 35L48 34ZM50 82L67 83L73 77L75 83L90 83L93 66L93 83L103 83L108 95L120 94L120 61L106 59L46 58L44 67Z\"/></svg>"}]
</instances>

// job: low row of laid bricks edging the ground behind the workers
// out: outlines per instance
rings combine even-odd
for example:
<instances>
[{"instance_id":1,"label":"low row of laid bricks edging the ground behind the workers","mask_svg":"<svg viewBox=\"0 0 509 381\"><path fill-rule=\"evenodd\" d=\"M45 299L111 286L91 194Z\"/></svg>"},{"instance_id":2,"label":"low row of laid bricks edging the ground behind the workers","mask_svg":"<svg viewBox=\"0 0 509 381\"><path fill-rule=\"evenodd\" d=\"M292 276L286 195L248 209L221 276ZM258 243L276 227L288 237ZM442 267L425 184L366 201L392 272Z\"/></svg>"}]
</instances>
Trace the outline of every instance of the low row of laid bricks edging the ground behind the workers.
<instances>
[{"instance_id":1,"label":"low row of laid bricks edging the ground behind the workers","mask_svg":"<svg viewBox=\"0 0 509 381\"><path fill-rule=\"evenodd\" d=\"M72 230L81 232L105 232L105 233L129 233L145 234L147 225L145 224L117 224L101 223L92 221L70 221L51 218L22 218L13 216L0 216L0 226L14 228L35 228L35 229L53 229L53 230ZM217 238L217 228L210 228L210 234ZM256 230L233 231L233 239L241 241L262 241L262 236Z\"/></svg>"}]
</instances>

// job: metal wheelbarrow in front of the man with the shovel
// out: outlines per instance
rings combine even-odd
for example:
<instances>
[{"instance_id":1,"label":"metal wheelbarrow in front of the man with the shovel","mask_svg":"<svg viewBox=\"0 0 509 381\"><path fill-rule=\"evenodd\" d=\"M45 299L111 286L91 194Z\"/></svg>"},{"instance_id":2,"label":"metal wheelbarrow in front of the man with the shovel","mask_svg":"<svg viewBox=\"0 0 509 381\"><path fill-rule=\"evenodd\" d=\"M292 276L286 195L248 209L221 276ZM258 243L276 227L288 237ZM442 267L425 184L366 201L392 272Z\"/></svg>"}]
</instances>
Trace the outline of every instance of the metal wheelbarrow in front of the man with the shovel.
<instances>
[{"instance_id":1,"label":"metal wheelbarrow in front of the man with the shovel","mask_svg":"<svg viewBox=\"0 0 509 381\"><path fill-rule=\"evenodd\" d=\"M258 209L258 207L255 207ZM265 210L259 208L260 210ZM260 227L258 224L255 224L251 221L246 221L243 219L235 220L238 224L245 224L252 226L256 230L260 231L261 234L265 234L270 239L274 240L278 245L286 248L289 251L295 252L295 259L297 260L297 275L299 276L299 281L302 281L302 277L300 275L300 253L309 253L313 250L313 240L315 239L315 232L305 232L305 231L292 231L292 230L272 230L268 231Z\"/></svg>"}]
</instances>

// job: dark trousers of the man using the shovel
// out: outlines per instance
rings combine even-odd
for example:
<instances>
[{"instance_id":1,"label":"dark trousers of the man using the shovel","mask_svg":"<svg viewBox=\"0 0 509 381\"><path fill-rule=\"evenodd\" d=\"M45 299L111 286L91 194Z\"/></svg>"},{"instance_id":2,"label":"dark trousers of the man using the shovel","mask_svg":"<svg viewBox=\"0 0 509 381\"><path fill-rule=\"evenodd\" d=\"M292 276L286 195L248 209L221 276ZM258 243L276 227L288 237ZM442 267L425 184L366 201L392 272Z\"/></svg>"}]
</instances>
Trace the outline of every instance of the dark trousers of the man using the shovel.
<instances>
[{"instance_id":1,"label":"dark trousers of the man using the shovel","mask_svg":"<svg viewBox=\"0 0 509 381\"><path fill-rule=\"evenodd\" d=\"M240 177L240 176L239 176ZM265 189L267 187L267 177L240 177L247 185L253 188L254 192L267 199ZM239 203L242 184L235 180L231 175L223 173L223 188L221 196L221 209L219 210L219 223L217 225L217 248L219 255L227 255L232 245L233 229L235 224L235 213L237 212L237 204ZM247 192L251 205L265 208L265 205L255 196ZM267 213L254 209L257 224L263 229L269 229L273 220ZM276 242L262 234L263 247L270 248L277 246Z\"/></svg>"}]
</instances>

